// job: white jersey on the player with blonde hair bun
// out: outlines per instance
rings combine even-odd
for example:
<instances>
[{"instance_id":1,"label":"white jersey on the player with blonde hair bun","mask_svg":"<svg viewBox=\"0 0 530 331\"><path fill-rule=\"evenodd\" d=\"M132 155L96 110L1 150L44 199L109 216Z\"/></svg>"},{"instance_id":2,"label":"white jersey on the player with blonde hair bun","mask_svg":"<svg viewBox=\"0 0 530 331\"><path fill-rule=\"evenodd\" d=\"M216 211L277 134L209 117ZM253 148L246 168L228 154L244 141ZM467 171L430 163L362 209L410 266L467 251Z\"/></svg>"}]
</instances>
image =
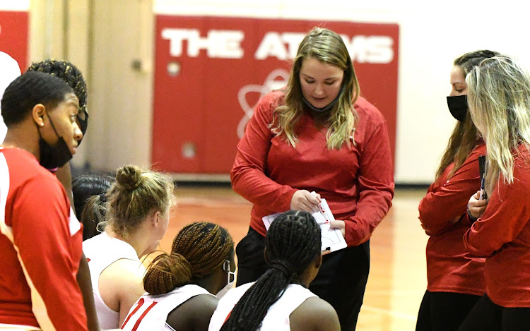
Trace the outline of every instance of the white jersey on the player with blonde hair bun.
<instances>
[{"instance_id":1,"label":"white jersey on the player with blonde hair bun","mask_svg":"<svg viewBox=\"0 0 530 331\"><path fill-rule=\"evenodd\" d=\"M125 241L112 238L106 232L83 241L83 252L88 260L92 291L94 293L95 311L102 330L119 328L119 311L113 311L103 302L100 295L100 275L109 265L122 258L141 261L134 248Z\"/></svg>"}]
</instances>

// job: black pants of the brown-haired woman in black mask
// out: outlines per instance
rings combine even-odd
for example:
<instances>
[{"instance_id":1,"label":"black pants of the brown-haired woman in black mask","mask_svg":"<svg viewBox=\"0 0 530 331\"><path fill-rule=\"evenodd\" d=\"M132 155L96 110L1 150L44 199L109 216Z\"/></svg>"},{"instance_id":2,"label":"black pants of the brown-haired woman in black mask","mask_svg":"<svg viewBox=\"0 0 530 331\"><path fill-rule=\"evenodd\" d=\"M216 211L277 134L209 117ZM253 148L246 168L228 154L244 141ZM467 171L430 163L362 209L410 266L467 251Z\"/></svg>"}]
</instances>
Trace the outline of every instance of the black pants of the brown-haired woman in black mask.
<instances>
[{"instance_id":1,"label":"black pants of the brown-haired woman in black mask","mask_svg":"<svg viewBox=\"0 0 530 331\"><path fill-rule=\"evenodd\" d=\"M457 331L481 296L425 291L416 331Z\"/></svg>"}]
</instances>

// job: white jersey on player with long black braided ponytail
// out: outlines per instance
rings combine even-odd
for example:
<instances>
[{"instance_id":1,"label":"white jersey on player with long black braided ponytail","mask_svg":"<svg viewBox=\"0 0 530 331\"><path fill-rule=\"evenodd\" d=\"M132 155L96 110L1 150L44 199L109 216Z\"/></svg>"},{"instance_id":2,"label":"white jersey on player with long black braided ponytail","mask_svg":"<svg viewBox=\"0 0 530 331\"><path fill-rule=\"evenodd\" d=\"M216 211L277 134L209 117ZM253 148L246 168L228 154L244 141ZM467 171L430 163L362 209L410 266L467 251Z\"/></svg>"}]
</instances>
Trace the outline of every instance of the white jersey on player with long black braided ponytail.
<instances>
[{"instance_id":1,"label":"white jersey on player with long black braided ponytail","mask_svg":"<svg viewBox=\"0 0 530 331\"><path fill-rule=\"evenodd\" d=\"M223 296L219 303L217 304L217 309L213 313L210 326L208 331L218 331L225 323L228 314L232 312L237 301L241 299L243 294L254 284L248 283L243 284L240 287L235 289L230 289L225 296ZM298 306L300 306L304 301L312 296L317 296L313 294L312 291L302 287L299 284L289 284L283 295L278 301L273 303L269 307L269 311L265 315L261 327L261 331L288 331L290 330L290 321L289 316L293 311L295 311Z\"/></svg>"}]
</instances>

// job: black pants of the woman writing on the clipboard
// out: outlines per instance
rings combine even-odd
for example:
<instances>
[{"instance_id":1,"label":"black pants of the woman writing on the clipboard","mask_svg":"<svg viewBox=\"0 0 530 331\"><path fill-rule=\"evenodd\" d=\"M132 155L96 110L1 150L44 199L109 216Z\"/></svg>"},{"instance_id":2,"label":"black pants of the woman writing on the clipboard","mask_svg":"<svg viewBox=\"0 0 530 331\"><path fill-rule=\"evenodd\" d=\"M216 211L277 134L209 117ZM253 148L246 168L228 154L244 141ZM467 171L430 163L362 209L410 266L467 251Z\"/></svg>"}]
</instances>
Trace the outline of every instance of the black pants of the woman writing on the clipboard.
<instances>
[{"instance_id":1,"label":"black pants of the woman writing on the clipboard","mask_svg":"<svg viewBox=\"0 0 530 331\"><path fill-rule=\"evenodd\" d=\"M257 280L267 269L265 237L252 228L237 244L237 286ZM353 331L370 270L370 241L324 255L310 290L335 308L341 330Z\"/></svg>"}]
</instances>

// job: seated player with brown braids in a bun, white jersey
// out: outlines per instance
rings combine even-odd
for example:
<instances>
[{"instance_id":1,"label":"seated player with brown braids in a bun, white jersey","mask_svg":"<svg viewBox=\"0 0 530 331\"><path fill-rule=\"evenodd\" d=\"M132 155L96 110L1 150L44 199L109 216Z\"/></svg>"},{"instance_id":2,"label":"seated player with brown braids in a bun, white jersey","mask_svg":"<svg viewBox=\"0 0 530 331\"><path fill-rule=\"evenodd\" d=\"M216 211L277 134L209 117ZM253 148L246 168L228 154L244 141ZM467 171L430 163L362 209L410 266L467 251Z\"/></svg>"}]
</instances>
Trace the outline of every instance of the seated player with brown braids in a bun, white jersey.
<instances>
[{"instance_id":1,"label":"seated player with brown braids in a bun, white jersey","mask_svg":"<svg viewBox=\"0 0 530 331\"><path fill-rule=\"evenodd\" d=\"M126 331L208 330L221 289L235 279L234 242L217 224L195 222L179 231L171 253L158 255L143 278L147 293L131 308Z\"/></svg>"}]
</instances>

